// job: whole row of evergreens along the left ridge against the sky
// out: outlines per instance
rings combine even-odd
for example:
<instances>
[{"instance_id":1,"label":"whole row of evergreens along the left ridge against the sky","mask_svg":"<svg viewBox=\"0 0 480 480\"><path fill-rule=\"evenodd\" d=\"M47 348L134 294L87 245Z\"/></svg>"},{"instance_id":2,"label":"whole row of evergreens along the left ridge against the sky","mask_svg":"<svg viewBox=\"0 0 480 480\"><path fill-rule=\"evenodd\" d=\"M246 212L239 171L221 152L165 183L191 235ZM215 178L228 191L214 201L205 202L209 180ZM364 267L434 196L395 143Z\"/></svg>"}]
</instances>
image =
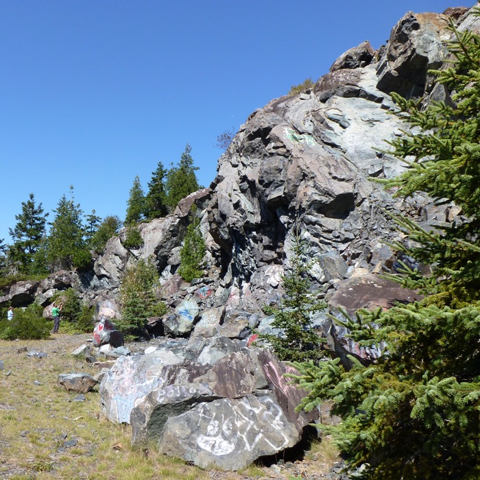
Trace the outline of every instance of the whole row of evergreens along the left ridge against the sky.
<instances>
[{"instance_id":1,"label":"whole row of evergreens along the left ridge against the sky","mask_svg":"<svg viewBox=\"0 0 480 480\"><path fill-rule=\"evenodd\" d=\"M117 215L102 219L95 210L85 215L80 204L75 202L71 186L69 197L62 195L53 210L53 221L49 222L49 213L36 201L34 193L30 193L28 200L21 204L21 213L15 215L15 226L9 228L12 243L5 244L4 239L0 239L0 276L82 269L91 263L91 252L104 250L108 239L122 226L128 228L126 246L138 245L141 239L135 227L139 222L165 217L182 198L200 188L197 169L191 146L187 144L177 165L171 164L166 169L158 162L146 194L136 176L123 221Z\"/></svg>"}]
</instances>

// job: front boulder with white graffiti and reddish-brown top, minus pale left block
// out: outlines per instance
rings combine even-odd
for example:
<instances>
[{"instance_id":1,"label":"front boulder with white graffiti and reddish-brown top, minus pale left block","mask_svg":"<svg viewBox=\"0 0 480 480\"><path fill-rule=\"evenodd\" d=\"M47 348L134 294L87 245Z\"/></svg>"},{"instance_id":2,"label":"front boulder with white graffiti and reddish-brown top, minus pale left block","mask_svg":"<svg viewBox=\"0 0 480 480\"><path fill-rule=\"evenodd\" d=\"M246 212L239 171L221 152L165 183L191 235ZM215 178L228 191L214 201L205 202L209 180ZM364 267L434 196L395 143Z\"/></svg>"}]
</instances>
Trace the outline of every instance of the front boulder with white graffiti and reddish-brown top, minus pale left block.
<instances>
[{"instance_id":1,"label":"front boulder with white graffiti and reddish-brown top, minus pale left block","mask_svg":"<svg viewBox=\"0 0 480 480\"><path fill-rule=\"evenodd\" d=\"M296 413L304 392L287 383L285 372L267 350L242 348L189 383L163 374L134 402L132 442L153 442L161 453L224 470L279 453L297 444L318 415Z\"/></svg>"}]
</instances>

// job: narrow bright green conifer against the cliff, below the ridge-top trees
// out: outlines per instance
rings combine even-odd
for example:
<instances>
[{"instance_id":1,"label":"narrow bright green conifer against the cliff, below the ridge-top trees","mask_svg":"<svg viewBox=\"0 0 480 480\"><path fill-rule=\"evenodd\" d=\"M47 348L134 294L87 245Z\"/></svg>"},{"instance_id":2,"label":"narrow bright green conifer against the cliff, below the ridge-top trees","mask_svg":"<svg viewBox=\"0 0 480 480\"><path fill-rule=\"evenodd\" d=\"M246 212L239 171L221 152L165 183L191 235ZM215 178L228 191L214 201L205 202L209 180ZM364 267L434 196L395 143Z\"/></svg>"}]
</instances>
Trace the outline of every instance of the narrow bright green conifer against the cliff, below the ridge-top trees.
<instances>
[{"instance_id":1,"label":"narrow bright green conifer against the cliff, below the ridge-top trees","mask_svg":"<svg viewBox=\"0 0 480 480\"><path fill-rule=\"evenodd\" d=\"M200 218L197 217L197 207L192 206L190 215L191 223L187 226L187 234L185 235L182 250L180 250L180 267L178 273L187 282L191 282L193 278L199 278L203 275L206 246L205 241L200 232Z\"/></svg>"}]
</instances>

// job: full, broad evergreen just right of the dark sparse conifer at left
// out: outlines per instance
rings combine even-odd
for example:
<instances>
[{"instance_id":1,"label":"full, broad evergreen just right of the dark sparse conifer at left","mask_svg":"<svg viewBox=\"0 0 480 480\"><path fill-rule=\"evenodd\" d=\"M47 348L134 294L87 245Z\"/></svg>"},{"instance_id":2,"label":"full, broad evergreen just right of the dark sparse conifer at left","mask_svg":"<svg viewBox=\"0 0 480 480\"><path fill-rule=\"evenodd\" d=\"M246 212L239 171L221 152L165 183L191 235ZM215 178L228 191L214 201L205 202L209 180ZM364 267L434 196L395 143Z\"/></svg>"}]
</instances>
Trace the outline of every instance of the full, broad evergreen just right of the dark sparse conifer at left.
<instances>
[{"instance_id":1,"label":"full, broad evergreen just right of the dark sparse conifer at left","mask_svg":"<svg viewBox=\"0 0 480 480\"><path fill-rule=\"evenodd\" d=\"M73 187L70 192L71 200L63 195L54 210L56 215L47 239L47 261L53 270L82 268L91 261L84 241L83 211L80 204L74 202Z\"/></svg>"}]
</instances>

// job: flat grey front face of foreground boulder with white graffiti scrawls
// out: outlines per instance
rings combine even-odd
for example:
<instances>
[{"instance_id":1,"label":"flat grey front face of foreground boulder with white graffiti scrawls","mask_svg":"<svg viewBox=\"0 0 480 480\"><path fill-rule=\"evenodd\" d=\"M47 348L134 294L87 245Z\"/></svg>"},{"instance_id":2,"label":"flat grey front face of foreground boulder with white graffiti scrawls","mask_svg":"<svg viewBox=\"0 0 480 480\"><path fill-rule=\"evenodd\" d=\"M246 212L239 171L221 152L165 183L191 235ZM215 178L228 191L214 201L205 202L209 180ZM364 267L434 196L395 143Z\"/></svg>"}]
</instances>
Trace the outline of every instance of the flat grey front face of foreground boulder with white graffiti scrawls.
<instances>
[{"instance_id":1,"label":"flat grey front face of foreground boulder with white graffiti scrawls","mask_svg":"<svg viewBox=\"0 0 480 480\"><path fill-rule=\"evenodd\" d=\"M294 446L300 435L275 396L222 398L170 418L158 448L202 468L244 468L259 457Z\"/></svg>"}]
</instances>

